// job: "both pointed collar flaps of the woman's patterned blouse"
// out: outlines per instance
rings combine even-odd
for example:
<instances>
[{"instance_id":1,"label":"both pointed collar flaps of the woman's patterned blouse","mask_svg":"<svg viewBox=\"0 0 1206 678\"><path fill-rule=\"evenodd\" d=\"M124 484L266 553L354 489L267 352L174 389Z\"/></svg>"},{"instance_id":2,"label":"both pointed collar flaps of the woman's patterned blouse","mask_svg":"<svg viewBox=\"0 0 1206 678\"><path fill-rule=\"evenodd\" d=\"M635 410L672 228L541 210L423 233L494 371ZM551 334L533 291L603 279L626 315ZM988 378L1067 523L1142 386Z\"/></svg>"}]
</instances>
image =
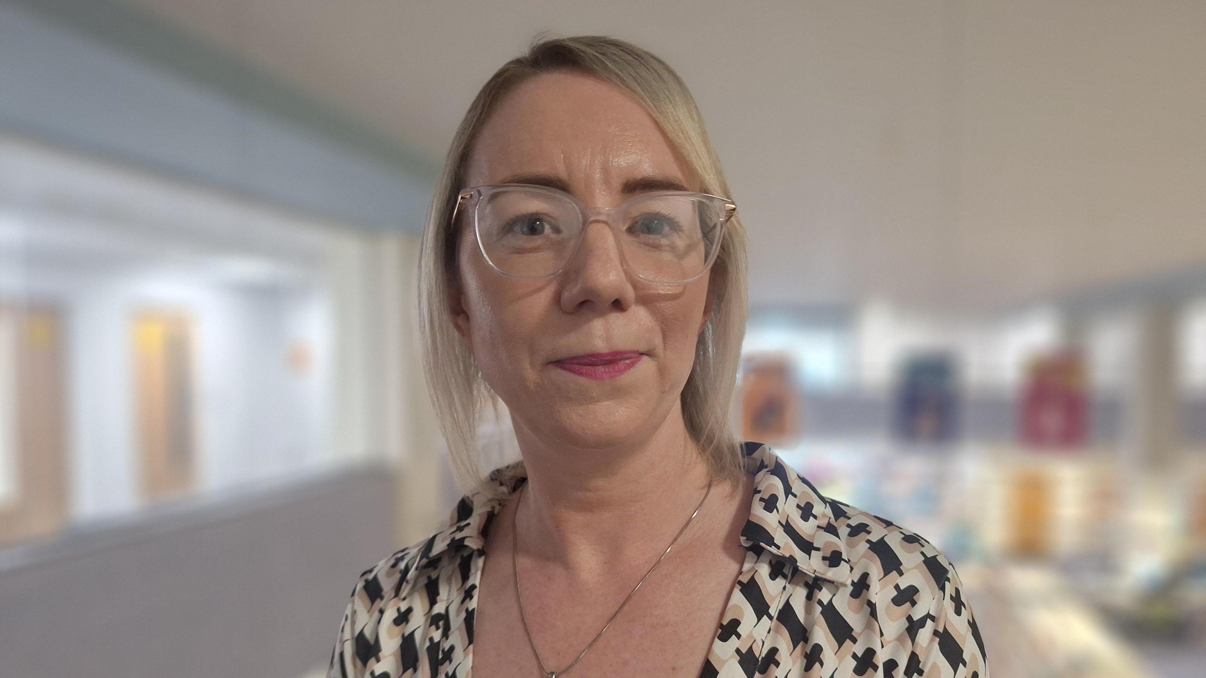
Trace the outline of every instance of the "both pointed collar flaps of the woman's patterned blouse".
<instances>
[{"instance_id":1,"label":"both pointed collar flaps of the woman's patterned blouse","mask_svg":"<svg viewBox=\"0 0 1206 678\"><path fill-rule=\"evenodd\" d=\"M742 528L742 545L768 551L792 569L849 584L850 560L835 524L835 518L844 515L841 508L831 504L768 445L742 443L742 454L745 470L754 478L754 501ZM409 572L411 583L423 571L439 567L445 554L484 553L490 524L507 497L525 481L523 462L515 462L494 469L482 489L462 497L452 510L449 526L420 548Z\"/></svg>"}]
</instances>

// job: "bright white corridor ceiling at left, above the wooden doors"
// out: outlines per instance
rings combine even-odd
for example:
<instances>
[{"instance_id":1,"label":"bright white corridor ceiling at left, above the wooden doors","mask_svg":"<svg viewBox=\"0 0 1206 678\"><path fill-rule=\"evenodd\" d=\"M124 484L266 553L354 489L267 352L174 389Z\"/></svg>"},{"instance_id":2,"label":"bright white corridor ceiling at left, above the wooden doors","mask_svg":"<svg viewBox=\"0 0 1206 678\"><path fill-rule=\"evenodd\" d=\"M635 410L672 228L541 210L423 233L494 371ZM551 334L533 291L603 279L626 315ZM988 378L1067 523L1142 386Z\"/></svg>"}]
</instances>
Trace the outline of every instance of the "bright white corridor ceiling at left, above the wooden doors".
<instances>
[{"instance_id":1,"label":"bright white corridor ceiling at left, above the wooden doors","mask_svg":"<svg viewBox=\"0 0 1206 678\"><path fill-rule=\"evenodd\" d=\"M294 211L23 138L0 135L0 175L8 195L21 197L0 214L0 261L33 290L137 280L160 269L181 279L305 287L350 241L346 230Z\"/></svg>"}]
</instances>

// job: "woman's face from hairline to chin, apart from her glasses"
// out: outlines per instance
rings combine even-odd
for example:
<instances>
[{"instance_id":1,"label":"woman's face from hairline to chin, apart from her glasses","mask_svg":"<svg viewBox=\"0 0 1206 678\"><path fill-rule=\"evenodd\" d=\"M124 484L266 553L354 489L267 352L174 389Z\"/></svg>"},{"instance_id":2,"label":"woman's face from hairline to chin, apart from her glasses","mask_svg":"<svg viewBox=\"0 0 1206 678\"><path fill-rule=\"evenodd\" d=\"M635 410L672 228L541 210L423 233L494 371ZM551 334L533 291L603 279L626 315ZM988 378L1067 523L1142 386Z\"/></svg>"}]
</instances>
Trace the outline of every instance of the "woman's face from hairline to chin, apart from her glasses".
<instances>
[{"instance_id":1,"label":"woman's face from hairline to chin, apart from her glasses","mask_svg":"<svg viewBox=\"0 0 1206 678\"><path fill-rule=\"evenodd\" d=\"M467 171L469 187L543 183L591 209L645 191L699 189L636 100L574 74L511 90ZM677 411L710 312L707 274L675 286L633 277L608 224L595 221L557 275L508 277L482 258L470 221L461 220L453 321L520 436L610 448L650 436Z\"/></svg>"}]
</instances>

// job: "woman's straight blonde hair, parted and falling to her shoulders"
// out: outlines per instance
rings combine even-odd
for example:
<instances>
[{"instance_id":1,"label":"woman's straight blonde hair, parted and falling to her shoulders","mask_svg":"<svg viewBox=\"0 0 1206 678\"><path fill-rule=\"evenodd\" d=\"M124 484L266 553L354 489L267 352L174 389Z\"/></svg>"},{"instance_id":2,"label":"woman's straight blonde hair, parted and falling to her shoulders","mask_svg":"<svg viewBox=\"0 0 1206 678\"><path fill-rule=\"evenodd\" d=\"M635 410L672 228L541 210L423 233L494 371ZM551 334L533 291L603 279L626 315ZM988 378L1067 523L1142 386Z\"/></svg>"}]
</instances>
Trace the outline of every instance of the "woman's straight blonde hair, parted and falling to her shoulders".
<instances>
[{"instance_id":1,"label":"woman's straight blonde hair, parted and falling to her shoulders","mask_svg":"<svg viewBox=\"0 0 1206 678\"><path fill-rule=\"evenodd\" d=\"M666 62L634 45L593 35L538 40L526 54L511 59L486 81L461 121L437 180L418 261L418 322L427 387L452 472L467 492L484 480L478 421L486 405L497 413L497 396L478 370L472 347L452 325L450 300L459 288L453 208L466 188L473 144L499 101L531 77L567 71L597 77L632 95L661 125L695 173L699 189L731 198L720 158L708 141L686 84ZM680 396L686 431L716 478L733 478L744 468L730 409L745 333L745 229L734 216L725 227L712 268L712 316L699 334L695 364Z\"/></svg>"}]
</instances>

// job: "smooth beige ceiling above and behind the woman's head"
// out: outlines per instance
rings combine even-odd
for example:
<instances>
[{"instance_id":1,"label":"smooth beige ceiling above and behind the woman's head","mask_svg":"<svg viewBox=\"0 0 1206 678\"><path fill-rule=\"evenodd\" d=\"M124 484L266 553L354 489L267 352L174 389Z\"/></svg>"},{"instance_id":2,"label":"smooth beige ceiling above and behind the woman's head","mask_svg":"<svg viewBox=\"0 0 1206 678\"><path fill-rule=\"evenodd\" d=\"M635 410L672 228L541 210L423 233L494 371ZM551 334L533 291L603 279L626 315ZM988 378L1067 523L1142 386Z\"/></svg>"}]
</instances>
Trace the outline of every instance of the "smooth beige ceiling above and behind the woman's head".
<instances>
[{"instance_id":1,"label":"smooth beige ceiling above and behind the woman's head","mask_svg":"<svg viewBox=\"0 0 1206 678\"><path fill-rule=\"evenodd\" d=\"M438 163L539 31L695 93L755 305L991 308L1206 265L1206 2L127 0Z\"/></svg>"}]
</instances>

